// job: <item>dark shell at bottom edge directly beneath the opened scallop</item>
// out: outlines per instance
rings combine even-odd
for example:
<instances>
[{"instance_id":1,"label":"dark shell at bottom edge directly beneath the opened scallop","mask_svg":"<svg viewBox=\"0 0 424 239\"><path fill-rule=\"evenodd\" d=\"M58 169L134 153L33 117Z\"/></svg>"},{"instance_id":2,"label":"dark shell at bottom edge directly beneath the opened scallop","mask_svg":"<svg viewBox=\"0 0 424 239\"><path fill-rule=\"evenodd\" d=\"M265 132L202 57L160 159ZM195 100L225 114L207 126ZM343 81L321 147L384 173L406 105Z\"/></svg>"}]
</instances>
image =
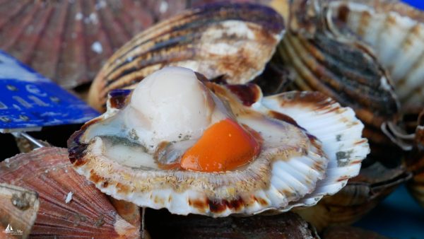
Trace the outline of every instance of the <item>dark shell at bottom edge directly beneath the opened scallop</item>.
<instances>
[{"instance_id":1,"label":"dark shell at bottom edge directly beneath the opened scallop","mask_svg":"<svg viewBox=\"0 0 424 239\"><path fill-rule=\"evenodd\" d=\"M291 212L276 216L211 218L177 216L148 209L146 227L152 238L319 238L312 226Z\"/></svg>"}]
</instances>

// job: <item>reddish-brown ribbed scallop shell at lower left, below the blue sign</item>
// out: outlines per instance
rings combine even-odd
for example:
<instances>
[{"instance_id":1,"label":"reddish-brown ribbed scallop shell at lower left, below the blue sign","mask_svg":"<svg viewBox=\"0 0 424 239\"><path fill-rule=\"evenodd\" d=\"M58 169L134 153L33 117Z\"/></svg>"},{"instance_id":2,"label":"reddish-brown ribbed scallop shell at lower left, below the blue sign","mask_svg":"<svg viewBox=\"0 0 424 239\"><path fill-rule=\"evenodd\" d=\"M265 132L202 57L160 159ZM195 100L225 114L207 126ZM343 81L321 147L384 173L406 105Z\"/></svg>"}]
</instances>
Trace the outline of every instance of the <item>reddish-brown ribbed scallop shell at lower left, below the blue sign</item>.
<instances>
[{"instance_id":1,"label":"reddish-brown ribbed scallop shell at lower left, below the blue sign","mask_svg":"<svg viewBox=\"0 0 424 239\"><path fill-rule=\"evenodd\" d=\"M0 182L25 187L39 195L40 210L30 236L139 235L136 227L117 214L104 194L73 170L64 148L39 148L6 159L0 163Z\"/></svg>"}]
</instances>

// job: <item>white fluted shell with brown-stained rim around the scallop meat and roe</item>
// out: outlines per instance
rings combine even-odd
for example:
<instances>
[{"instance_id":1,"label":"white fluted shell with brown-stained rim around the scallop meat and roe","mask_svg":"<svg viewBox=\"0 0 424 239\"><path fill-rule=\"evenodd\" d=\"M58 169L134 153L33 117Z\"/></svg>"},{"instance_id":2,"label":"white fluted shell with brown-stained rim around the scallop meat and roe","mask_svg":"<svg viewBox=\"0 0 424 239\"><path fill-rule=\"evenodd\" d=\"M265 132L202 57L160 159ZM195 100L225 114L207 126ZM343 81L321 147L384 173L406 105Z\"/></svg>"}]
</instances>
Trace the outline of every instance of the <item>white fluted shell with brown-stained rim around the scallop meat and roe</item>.
<instances>
[{"instance_id":1,"label":"white fluted shell with brown-stained rim around the scallop meat and roe","mask_svg":"<svg viewBox=\"0 0 424 239\"><path fill-rule=\"evenodd\" d=\"M129 91L118 91L112 94L104 115L86 123L69 139L71 162L78 173L117 199L153 209L165 207L174 214L214 217L311 206L324 195L341 190L350 177L358 175L360 162L369 148L367 140L360 136L363 124L355 118L353 110L341 107L320 93L292 92L262 98L256 85L206 85L230 104L237 120L260 131L264 139L276 130L266 117L271 117L273 124L290 129L286 134L293 138L284 139L278 146L278 151L284 153L261 152L261 155L273 156L273 163L263 164L269 160L266 158L272 157L259 155L246 169L223 173L148 170L121 165L105 156L102 137L80 141L91 125L119 114ZM298 120L302 124L298 124ZM302 149L304 143L300 144L294 133L298 130L307 135L309 149ZM323 148L320 141L325 142ZM304 150L307 152L293 154Z\"/></svg>"}]
</instances>

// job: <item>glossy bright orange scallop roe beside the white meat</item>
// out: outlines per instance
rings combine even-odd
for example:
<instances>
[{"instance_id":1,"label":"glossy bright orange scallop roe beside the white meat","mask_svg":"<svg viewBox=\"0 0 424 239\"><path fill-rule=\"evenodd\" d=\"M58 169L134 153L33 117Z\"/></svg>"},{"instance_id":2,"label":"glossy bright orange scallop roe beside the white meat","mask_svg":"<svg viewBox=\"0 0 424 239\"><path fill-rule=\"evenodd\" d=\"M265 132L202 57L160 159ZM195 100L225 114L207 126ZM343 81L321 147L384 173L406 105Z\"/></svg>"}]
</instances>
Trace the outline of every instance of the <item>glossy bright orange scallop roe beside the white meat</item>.
<instances>
[{"instance_id":1,"label":"glossy bright orange scallop roe beside the white meat","mask_svg":"<svg viewBox=\"0 0 424 239\"><path fill-rule=\"evenodd\" d=\"M247 131L233 119L223 119L205 130L182 156L186 170L220 172L245 165L259 154L259 133Z\"/></svg>"}]
</instances>

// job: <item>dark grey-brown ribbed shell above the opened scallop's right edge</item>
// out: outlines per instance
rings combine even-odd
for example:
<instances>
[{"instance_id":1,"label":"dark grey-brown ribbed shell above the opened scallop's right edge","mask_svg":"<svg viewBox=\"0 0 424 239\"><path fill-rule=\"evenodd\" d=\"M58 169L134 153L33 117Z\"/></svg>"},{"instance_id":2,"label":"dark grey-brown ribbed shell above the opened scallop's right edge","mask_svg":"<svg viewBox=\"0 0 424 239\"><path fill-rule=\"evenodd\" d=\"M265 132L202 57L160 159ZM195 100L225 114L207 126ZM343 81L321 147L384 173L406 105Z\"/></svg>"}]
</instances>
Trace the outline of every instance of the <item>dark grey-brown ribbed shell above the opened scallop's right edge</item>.
<instances>
[{"instance_id":1,"label":"dark grey-brown ribbed shell above the opened scallop's right edge","mask_svg":"<svg viewBox=\"0 0 424 239\"><path fill-rule=\"evenodd\" d=\"M321 91L377 128L396 116L399 103L389 76L360 45L323 31L310 36L289 30L278 49L284 64L296 73L297 88Z\"/></svg>"}]
</instances>

